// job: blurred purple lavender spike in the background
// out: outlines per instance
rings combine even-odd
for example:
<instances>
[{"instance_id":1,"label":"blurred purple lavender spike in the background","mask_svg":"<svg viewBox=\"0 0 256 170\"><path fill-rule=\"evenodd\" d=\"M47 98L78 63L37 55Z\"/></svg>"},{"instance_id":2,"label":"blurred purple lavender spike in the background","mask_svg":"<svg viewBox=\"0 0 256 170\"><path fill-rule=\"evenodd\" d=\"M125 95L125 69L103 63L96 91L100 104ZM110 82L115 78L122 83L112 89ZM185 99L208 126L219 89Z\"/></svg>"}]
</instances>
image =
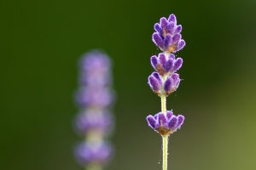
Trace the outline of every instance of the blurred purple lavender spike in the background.
<instances>
[{"instance_id":1,"label":"blurred purple lavender spike in the background","mask_svg":"<svg viewBox=\"0 0 256 170\"><path fill-rule=\"evenodd\" d=\"M87 169L103 167L113 156L113 146L107 141L113 131L113 115L109 111L113 104L110 69L108 55L97 50L84 54L79 62L79 114L74 125L85 140L76 147L75 156Z\"/></svg>"}]
</instances>

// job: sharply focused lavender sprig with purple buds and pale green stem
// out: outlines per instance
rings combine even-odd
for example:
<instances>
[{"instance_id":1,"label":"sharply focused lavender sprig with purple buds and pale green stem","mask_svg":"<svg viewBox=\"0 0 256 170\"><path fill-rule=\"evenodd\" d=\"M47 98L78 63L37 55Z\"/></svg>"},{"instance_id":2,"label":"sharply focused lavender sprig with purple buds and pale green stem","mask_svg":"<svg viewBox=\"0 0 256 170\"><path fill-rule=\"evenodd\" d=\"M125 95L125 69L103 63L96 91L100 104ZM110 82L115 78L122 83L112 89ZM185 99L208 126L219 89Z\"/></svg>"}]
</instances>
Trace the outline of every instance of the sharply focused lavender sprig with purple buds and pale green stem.
<instances>
[{"instance_id":1,"label":"sharply focused lavender sprig with purple buds and pale green stem","mask_svg":"<svg viewBox=\"0 0 256 170\"><path fill-rule=\"evenodd\" d=\"M154 30L156 32L152 40L163 53L150 59L155 72L148 77L148 84L160 96L161 111L154 116L147 116L147 122L162 137L163 170L167 170L168 138L182 126L184 116L175 116L172 111L166 111L166 97L176 91L179 85L180 78L176 71L183 65L183 59L176 59L174 53L181 50L185 42L180 34L182 26L177 26L174 14L168 19L161 18L160 23L154 25Z\"/></svg>"}]
</instances>

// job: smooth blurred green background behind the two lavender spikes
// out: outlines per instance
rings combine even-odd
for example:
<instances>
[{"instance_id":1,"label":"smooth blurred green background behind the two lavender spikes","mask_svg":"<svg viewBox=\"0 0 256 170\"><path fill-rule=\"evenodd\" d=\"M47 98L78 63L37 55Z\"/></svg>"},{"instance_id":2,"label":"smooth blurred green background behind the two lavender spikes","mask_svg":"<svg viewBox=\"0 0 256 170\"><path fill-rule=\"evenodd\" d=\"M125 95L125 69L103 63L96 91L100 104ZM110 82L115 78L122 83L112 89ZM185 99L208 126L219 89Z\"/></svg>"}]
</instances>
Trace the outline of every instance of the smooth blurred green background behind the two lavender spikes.
<instances>
[{"instance_id":1,"label":"smooth blurred green background behind the two lavender spikes","mask_svg":"<svg viewBox=\"0 0 256 170\"><path fill-rule=\"evenodd\" d=\"M77 61L92 48L113 59L118 94L108 169L161 169L160 111L148 87L154 23L176 14L183 78L167 109L183 114L169 169L256 168L256 1L0 1L0 169L79 170L73 146Z\"/></svg>"}]
</instances>

